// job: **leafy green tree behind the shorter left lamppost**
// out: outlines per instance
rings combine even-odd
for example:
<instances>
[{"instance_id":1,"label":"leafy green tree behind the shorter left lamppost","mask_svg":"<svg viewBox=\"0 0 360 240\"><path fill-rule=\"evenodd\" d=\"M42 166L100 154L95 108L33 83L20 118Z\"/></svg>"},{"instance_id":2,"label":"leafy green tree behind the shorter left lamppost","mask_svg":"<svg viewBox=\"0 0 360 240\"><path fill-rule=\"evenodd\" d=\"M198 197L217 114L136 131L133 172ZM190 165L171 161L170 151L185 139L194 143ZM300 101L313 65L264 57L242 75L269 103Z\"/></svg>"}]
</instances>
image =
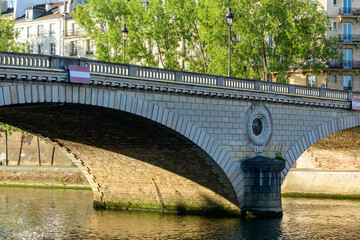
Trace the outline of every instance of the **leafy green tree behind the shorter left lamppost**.
<instances>
[{"instance_id":1,"label":"leafy green tree behind the shorter left lamppost","mask_svg":"<svg viewBox=\"0 0 360 240\"><path fill-rule=\"evenodd\" d=\"M122 62L121 28L129 30L126 59L130 63L181 69L179 19L171 9L171 1L89 0L78 5L72 16L95 40L99 60Z\"/></svg>"}]
</instances>

